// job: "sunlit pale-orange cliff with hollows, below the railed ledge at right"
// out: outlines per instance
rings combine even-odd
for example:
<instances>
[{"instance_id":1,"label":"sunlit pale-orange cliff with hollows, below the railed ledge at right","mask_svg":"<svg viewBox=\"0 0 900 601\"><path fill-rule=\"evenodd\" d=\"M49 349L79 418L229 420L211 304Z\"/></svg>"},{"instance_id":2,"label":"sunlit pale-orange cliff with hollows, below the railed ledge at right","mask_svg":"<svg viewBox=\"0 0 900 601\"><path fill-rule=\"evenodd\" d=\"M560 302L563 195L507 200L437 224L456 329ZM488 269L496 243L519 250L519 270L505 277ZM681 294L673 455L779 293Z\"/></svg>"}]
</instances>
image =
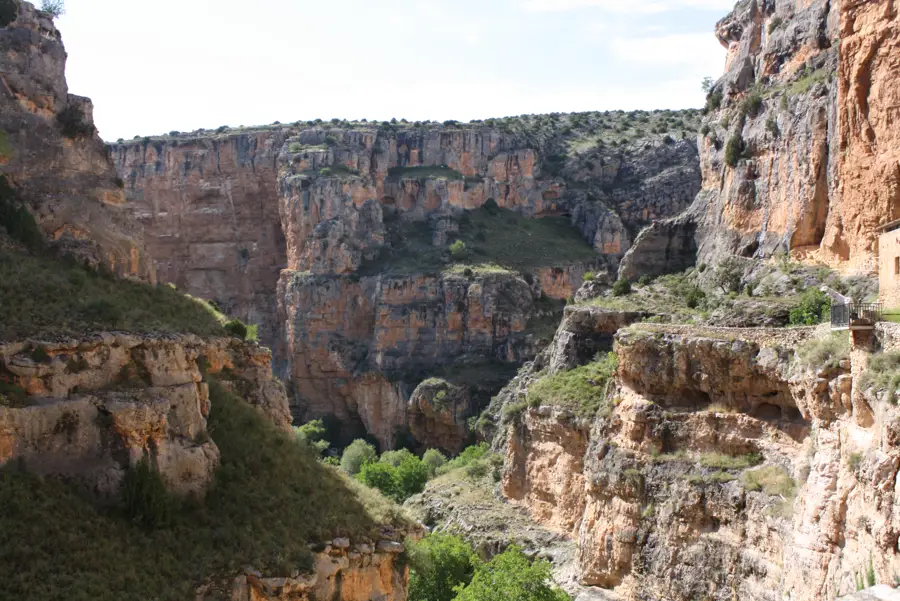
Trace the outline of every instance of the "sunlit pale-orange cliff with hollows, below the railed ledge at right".
<instances>
[{"instance_id":1,"label":"sunlit pale-orange cliff with hollows, below the railed ledge at right","mask_svg":"<svg viewBox=\"0 0 900 601\"><path fill-rule=\"evenodd\" d=\"M810 369L793 349L813 328L635 326L616 336L609 406L593 419L501 411L559 373L554 353L599 344L596 317L567 321L492 410L504 494L577 542L582 585L813 601L893 582L900 415L854 386L867 351ZM563 370L586 361L565 356Z\"/></svg>"}]
</instances>

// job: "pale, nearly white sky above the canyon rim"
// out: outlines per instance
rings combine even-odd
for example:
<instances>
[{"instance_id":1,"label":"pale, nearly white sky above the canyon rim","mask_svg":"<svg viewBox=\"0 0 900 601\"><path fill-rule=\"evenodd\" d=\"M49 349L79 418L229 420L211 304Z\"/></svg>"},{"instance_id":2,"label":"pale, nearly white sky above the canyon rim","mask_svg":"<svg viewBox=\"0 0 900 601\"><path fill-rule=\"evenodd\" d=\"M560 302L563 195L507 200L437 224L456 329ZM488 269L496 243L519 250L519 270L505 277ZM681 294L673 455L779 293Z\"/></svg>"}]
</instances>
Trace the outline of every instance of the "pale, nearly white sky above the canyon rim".
<instances>
[{"instance_id":1,"label":"pale, nearly white sky above the canyon rim","mask_svg":"<svg viewBox=\"0 0 900 601\"><path fill-rule=\"evenodd\" d=\"M279 120L690 108L733 0L68 0L107 140Z\"/></svg>"}]
</instances>

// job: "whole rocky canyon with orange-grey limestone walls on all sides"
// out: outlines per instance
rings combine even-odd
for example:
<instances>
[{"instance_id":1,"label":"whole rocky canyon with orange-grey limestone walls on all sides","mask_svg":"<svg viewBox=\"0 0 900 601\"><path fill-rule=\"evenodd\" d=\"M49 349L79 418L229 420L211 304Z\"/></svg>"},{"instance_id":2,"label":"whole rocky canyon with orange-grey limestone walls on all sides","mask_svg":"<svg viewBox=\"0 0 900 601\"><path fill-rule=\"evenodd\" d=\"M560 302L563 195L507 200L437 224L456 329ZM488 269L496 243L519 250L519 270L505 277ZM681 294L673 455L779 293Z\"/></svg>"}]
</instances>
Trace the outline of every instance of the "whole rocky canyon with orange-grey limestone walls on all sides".
<instances>
[{"instance_id":1,"label":"whole rocky canyon with orange-grey limestone walls on all sides","mask_svg":"<svg viewBox=\"0 0 900 601\"><path fill-rule=\"evenodd\" d=\"M728 60L702 123L335 119L106 145L90 100L68 93L50 15L13 2L0 175L52 259L104 286L171 285L257 326L259 342L219 326L0 341L3 478L109 500L147 462L178 498L215 501L229 476L294 453L292 425L323 419L336 448L488 442L496 479L437 478L406 509L483 557L510 544L547 557L579 601L818 601L897 583L898 380L879 388L870 371L900 349L898 327L715 327L733 305L682 319L638 307L651 284L611 291L686 272L660 286L723 302L743 290L764 315L732 321L760 326L788 319L770 296L824 283L792 261L874 271L878 228L900 211L894 2L741 0L716 27ZM30 252L13 234L0 252ZM737 285L722 292L732 256ZM757 280L772 265L774 295ZM211 425L214 397L248 406L238 434L261 430L276 451L241 463L250 450ZM312 467L279 484L320 487L341 515L302 531L300 551L271 539L266 569L232 557L192 574L197 599L407 598L421 524L303 457ZM247 529L282 528L240 510ZM365 528L341 521L363 514Z\"/></svg>"}]
</instances>

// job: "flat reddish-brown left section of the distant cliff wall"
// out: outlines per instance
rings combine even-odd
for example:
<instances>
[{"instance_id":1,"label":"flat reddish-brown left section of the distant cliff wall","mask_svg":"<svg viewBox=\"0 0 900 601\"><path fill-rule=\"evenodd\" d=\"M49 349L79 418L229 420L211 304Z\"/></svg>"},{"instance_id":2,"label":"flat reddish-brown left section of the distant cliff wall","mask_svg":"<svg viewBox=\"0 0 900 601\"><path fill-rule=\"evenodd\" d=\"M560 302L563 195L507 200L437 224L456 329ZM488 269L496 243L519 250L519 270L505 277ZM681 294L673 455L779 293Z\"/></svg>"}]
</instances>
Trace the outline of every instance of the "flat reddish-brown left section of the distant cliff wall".
<instances>
[{"instance_id":1,"label":"flat reddish-brown left section of the distant cliff wall","mask_svg":"<svg viewBox=\"0 0 900 601\"><path fill-rule=\"evenodd\" d=\"M258 324L267 344L286 262L274 202L284 140L275 129L113 149L159 279Z\"/></svg>"}]
</instances>

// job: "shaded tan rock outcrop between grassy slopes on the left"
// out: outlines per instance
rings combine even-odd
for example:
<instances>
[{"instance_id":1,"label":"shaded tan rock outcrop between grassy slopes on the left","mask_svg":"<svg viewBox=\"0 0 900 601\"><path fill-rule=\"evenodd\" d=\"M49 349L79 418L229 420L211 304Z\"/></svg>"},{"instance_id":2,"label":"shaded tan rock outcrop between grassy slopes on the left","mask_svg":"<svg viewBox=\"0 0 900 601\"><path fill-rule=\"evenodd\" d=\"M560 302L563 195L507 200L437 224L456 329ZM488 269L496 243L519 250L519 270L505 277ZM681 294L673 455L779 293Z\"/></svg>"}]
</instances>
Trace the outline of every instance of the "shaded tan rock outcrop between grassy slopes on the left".
<instances>
[{"instance_id":1,"label":"shaded tan rock outcrop between grassy slopes on the left","mask_svg":"<svg viewBox=\"0 0 900 601\"><path fill-rule=\"evenodd\" d=\"M81 479L113 493L142 459L179 493L211 482L219 451L206 430L206 374L288 429L268 350L235 339L99 334L0 346L0 465Z\"/></svg>"}]
</instances>

